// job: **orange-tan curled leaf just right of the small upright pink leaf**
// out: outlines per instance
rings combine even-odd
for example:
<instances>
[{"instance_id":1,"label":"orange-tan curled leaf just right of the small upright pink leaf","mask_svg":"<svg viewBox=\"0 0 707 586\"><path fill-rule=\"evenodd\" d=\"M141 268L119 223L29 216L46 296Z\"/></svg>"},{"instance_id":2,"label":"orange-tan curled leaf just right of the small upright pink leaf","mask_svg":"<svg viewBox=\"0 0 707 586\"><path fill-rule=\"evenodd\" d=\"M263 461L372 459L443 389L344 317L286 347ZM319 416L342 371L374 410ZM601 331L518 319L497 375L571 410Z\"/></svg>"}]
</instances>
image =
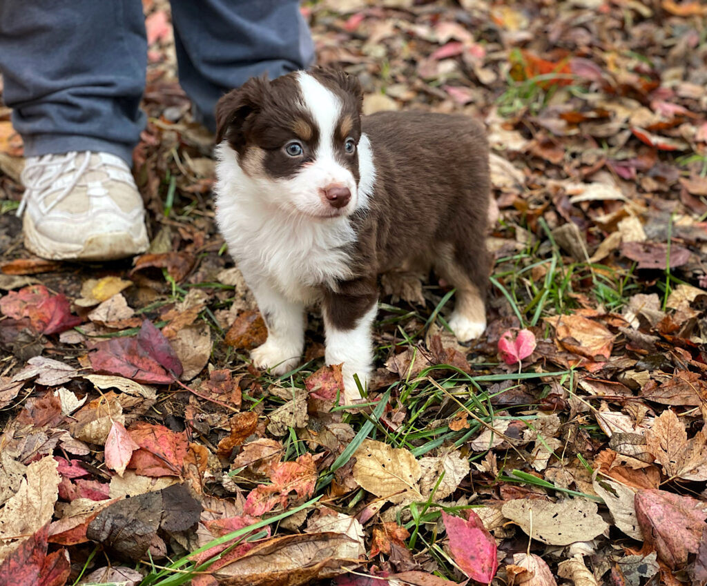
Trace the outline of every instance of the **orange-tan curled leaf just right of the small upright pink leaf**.
<instances>
[{"instance_id":1,"label":"orange-tan curled leaf just right of the small upright pink leaf","mask_svg":"<svg viewBox=\"0 0 707 586\"><path fill-rule=\"evenodd\" d=\"M545 321L555 328L559 345L566 350L603 361L612 355L616 336L606 327L581 315L556 315Z\"/></svg>"}]
</instances>

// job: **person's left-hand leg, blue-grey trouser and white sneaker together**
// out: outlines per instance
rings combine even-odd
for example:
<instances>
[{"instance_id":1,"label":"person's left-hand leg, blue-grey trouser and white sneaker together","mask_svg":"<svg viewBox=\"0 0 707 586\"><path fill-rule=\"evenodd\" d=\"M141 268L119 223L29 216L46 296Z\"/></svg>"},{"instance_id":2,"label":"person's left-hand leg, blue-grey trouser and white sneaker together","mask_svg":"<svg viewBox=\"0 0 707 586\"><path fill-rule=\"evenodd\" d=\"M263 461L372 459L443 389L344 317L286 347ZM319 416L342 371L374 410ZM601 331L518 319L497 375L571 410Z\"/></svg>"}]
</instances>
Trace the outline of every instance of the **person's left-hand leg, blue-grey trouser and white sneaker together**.
<instances>
[{"instance_id":1,"label":"person's left-hand leg, blue-grey trouser and white sneaker together","mask_svg":"<svg viewBox=\"0 0 707 586\"><path fill-rule=\"evenodd\" d=\"M130 173L144 127L139 0L0 1L4 101L25 145L25 247L50 259L144 252Z\"/></svg>"}]
</instances>

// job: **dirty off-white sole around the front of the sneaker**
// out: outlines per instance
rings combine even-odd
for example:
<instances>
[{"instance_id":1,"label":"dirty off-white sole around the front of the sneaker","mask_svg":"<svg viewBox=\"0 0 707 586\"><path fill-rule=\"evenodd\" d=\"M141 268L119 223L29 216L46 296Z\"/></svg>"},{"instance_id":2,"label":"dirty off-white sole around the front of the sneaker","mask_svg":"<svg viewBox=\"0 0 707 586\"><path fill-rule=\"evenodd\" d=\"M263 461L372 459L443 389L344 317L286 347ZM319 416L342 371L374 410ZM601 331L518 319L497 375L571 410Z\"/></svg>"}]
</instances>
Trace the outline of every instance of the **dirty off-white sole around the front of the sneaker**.
<instances>
[{"instance_id":1,"label":"dirty off-white sole around the front of the sneaker","mask_svg":"<svg viewBox=\"0 0 707 586\"><path fill-rule=\"evenodd\" d=\"M133 257L148 249L150 242L143 225L138 238L125 232L107 232L91 236L83 245L57 242L42 235L28 213L23 218L25 248L49 260L104 261Z\"/></svg>"}]
</instances>

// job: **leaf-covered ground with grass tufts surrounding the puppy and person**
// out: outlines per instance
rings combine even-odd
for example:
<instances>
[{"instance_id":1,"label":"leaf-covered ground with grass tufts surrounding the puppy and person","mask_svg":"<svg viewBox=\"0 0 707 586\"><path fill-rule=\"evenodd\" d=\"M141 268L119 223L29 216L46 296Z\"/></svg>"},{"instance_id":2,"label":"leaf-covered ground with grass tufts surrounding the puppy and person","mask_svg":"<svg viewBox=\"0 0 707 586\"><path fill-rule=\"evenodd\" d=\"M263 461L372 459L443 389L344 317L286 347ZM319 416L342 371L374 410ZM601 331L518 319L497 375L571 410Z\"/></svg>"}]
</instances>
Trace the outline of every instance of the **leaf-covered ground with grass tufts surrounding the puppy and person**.
<instances>
[{"instance_id":1,"label":"leaf-covered ground with grass tufts surrounding the puppy and person","mask_svg":"<svg viewBox=\"0 0 707 586\"><path fill-rule=\"evenodd\" d=\"M144 8L147 254L30 257L0 110L0 585L705 583L703 4L303 6L366 112L465 112L492 146L486 333L457 344L445 283L386 275L355 408L316 313L300 367L250 367L213 137Z\"/></svg>"}]
</instances>

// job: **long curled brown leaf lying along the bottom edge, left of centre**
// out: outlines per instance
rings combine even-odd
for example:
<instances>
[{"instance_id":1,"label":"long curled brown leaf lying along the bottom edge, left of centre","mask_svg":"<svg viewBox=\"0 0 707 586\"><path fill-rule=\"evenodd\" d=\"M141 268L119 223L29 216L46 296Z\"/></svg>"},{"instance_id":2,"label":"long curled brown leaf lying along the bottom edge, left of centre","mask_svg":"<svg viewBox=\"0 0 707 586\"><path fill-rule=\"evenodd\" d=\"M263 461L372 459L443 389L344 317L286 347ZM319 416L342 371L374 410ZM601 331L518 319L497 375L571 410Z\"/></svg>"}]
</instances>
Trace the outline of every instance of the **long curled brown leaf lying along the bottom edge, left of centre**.
<instances>
[{"instance_id":1,"label":"long curled brown leaf lying along the bottom edge, left of centre","mask_svg":"<svg viewBox=\"0 0 707 586\"><path fill-rule=\"evenodd\" d=\"M357 566L358 541L323 532L284 535L259 541L237 560L216 571L221 586L298 586L333 578Z\"/></svg>"}]
</instances>

